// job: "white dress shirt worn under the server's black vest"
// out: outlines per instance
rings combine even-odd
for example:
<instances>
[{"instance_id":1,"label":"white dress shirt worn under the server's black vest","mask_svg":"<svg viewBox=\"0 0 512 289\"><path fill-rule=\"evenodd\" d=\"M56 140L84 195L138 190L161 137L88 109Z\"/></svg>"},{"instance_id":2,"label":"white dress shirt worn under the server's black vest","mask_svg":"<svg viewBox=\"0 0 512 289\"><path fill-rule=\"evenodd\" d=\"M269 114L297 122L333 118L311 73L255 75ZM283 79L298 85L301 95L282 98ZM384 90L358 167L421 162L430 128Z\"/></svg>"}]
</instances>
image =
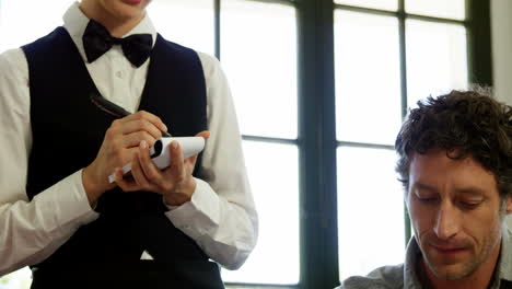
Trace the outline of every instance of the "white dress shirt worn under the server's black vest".
<instances>
[{"instance_id":1,"label":"white dress shirt worn under the server's black vest","mask_svg":"<svg viewBox=\"0 0 512 289\"><path fill-rule=\"evenodd\" d=\"M82 34L89 19L73 3L63 16L95 85L103 96L135 112L148 74L148 61L135 68L118 45L86 63ZM126 36L156 32L146 16ZM231 92L219 61L198 53L206 79L211 132L191 200L165 215L213 261L238 268L254 248L258 221L249 189ZM25 185L32 148L28 66L22 49L0 55L0 276L51 255L82 224L98 218L82 184L82 170L28 201ZM168 124L172 126L172 124ZM51 170L51 164L48 164Z\"/></svg>"}]
</instances>

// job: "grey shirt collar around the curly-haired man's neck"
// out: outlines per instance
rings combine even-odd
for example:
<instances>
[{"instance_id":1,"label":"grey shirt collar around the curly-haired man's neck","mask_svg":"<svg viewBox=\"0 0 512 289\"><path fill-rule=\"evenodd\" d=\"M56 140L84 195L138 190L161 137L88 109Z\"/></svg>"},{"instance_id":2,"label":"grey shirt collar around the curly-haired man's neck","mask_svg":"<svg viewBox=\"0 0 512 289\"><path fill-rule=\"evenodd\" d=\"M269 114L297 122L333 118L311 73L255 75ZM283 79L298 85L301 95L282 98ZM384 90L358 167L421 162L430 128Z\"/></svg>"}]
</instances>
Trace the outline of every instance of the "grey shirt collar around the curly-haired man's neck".
<instances>
[{"instance_id":1,"label":"grey shirt collar around the curly-haired man's neck","mask_svg":"<svg viewBox=\"0 0 512 289\"><path fill-rule=\"evenodd\" d=\"M503 224L501 235L501 252L496 270L494 281L491 288L499 288L501 280L512 281L512 238L507 224ZM404 264L404 288L421 288L418 275L416 273L416 264L421 256L421 251L416 238L412 236L407 245L406 261Z\"/></svg>"}]
</instances>

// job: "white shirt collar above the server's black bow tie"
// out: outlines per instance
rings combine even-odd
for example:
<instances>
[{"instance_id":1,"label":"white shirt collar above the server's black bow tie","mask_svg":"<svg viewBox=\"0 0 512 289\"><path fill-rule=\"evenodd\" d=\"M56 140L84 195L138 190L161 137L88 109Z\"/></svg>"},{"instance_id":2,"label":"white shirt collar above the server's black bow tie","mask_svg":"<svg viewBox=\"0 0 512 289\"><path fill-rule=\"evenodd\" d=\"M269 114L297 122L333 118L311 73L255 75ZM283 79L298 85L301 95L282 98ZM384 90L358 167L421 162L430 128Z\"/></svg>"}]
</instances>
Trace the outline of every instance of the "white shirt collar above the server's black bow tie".
<instances>
[{"instance_id":1,"label":"white shirt collar above the server's black bow tie","mask_svg":"<svg viewBox=\"0 0 512 289\"><path fill-rule=\"evenodd\" d=\"M79 5L80 5L80 2L72 3L68 8L68 11L66 11L62 19L65 23L63 25L65 28L68 31L69 35L73 39L74 44L79 48L82 56L84 56L82 36L83 36L83 33L85 32L85 27L89 24L89 18L85 16L85 14L80 10ZM135 26L131 31L129 31L123 37L127 37L132 34L143 34L143 33L151 34L151 36L153 37L153 46L154 46L156 42L156 30L154 28L153 22L148 16L148 13L146 13L144 18L139 24L137 24L137 26Z\"/></svg>"}]
</instances>

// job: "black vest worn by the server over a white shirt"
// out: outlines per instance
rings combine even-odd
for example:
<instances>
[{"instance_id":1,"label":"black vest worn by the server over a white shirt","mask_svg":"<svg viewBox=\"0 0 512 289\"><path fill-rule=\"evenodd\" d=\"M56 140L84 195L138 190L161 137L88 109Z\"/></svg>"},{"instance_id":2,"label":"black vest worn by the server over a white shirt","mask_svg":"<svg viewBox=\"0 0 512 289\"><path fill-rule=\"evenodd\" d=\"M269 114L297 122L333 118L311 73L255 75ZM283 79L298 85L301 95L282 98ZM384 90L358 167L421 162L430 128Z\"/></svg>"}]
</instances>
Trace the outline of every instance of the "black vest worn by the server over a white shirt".
<instances>
[{"instance_id":1,"label":"black vest worn by the server over a white shirt","mask_svg":"<svg viewBox=\"0 0 512 289\"><path fill-rule=\"evenodd\" d=\"M114 117L89 99L97 89L63 27L22 48L30 71L33 147L26 192L32 199L88 166ZM150 60L139 109L159 116L175 137L205 130L206 83L197 54L159 35ZM100 218L81 227L51 256L36 265L38 271L47 271L49 276L50 271L73 270L70 268L84 264L132 268L146 250L159 264L174 270L166 274L179 275L176 279L184 285L195 278L222 284L217 264L209 262L195 241L164 216L166 208L160 195L113 189L98 199L96 210ZM198 288L208 288L203 286Z\"/></svg>"}]
</instances>

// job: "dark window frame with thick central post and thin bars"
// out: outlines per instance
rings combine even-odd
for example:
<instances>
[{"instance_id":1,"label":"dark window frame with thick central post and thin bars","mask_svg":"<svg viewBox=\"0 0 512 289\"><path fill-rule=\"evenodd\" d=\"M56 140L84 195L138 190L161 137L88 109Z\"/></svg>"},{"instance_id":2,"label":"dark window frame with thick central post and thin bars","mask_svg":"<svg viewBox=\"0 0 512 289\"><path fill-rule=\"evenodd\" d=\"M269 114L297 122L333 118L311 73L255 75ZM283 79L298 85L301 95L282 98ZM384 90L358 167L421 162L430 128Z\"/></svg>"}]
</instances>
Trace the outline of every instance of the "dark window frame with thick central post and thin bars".
<instances>
[{"instance_id":1,"label":"dark window frame with thick central post and thin bars","mask_svg":"<svg viewBox=\"0 0 512 289\"><path fill-rule=\"evenodd\" d=\"M220 57L220 1L216 1L217 57ZM229 288L334 288L339 285L337 229L337 164L340 146L384 148L377 143L344 142L336 138L334 11L351 10L392 15L399 23L402 117L407 114L406 20L456 23L467 31L468 82L492 85L490 3L466 0L466 19L452 20L334 3L333 0L247 0L292 4L298 13L298 139L242 136L244 140L295 144L299 148L300 282L295 286L226 284ZM404 206L406 240L411 236Z\"/></svg>"}]
</instances>

